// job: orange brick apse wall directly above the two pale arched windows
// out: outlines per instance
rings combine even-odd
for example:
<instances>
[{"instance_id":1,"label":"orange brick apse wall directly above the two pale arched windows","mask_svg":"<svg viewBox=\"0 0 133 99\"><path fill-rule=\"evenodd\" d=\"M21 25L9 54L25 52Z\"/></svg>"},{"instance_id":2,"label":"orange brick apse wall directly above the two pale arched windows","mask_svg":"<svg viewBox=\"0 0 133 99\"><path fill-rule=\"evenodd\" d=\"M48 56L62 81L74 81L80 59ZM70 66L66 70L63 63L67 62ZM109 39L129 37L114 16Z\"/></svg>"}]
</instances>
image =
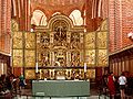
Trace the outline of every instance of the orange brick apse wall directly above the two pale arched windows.
<instances>
[{"instance_id":1,"label":"orange brick apse wall directly above the two pale arched windows","mask_svg":"<svg viewBox=\"0 0 133 99\"><path fill-rule=\"evenodd\" d=\"M82 11L85 0L31 0L31 12L42 10L48 19L55 12L69 14L78 9Z\"/></svg>"}]
</instances>

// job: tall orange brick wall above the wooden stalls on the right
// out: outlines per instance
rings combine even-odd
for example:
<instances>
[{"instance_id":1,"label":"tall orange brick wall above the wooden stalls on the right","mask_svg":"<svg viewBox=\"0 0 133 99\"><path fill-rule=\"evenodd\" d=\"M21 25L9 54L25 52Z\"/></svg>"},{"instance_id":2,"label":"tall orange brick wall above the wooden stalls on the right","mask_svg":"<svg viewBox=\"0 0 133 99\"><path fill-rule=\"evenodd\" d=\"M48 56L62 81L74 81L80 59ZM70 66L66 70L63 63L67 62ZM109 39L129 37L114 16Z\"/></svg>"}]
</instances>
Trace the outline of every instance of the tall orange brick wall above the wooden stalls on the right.
<instances>
[{"instance_id":1,"label":"tall orange brick wall above the wooden stalls on the right","mask_svg":"<svg viewBox=\"0 0 133 99\"><path fill-rule=\"evenodd\" d=\"M133 44L127 33L133 32L133 1L110 0L110 52L122 50Z\"/></svg>"}]
</instances>

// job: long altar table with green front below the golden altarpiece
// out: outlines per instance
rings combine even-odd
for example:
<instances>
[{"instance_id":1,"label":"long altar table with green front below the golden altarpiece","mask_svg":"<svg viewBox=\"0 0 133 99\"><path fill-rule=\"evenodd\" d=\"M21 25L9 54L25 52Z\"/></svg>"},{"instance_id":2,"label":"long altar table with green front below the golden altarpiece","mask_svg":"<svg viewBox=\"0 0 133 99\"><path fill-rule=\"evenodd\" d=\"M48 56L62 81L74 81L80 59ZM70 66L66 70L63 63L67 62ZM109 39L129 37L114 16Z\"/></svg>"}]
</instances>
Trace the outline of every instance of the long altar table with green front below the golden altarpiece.
<instances>
[{"instance_id":1,"label":"long altar table with green front below the golden altarpiece","mask_svg":"<svg viewBox=\"0 0 133 99\"><path fill-rule=\"evenodd\" d=\"M32 80L32 95L44 97L89 97L86 80Z\"/></svg>"}]
</instances>

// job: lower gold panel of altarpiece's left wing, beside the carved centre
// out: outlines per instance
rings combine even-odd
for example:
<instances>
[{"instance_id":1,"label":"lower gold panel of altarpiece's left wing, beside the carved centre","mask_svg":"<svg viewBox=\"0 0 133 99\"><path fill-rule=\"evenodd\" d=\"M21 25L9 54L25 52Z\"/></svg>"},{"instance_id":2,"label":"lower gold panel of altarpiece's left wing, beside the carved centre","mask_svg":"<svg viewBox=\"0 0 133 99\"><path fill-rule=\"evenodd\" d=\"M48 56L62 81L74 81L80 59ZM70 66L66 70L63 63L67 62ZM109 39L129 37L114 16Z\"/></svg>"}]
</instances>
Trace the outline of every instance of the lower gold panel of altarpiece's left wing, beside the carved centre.
<instances>
[{"instance_id":1,"label":"lower gold panel of altarpiece's left wing, beside the carved centre","mask_svg":"<svg viewBox=\"0 0 133 99\"><path fill-rule=\"evenodd\" d=\"M25 67L34 67L35 66L35 51L25 50L24 51L24 66Z\"/></svg>"}]
</instances>

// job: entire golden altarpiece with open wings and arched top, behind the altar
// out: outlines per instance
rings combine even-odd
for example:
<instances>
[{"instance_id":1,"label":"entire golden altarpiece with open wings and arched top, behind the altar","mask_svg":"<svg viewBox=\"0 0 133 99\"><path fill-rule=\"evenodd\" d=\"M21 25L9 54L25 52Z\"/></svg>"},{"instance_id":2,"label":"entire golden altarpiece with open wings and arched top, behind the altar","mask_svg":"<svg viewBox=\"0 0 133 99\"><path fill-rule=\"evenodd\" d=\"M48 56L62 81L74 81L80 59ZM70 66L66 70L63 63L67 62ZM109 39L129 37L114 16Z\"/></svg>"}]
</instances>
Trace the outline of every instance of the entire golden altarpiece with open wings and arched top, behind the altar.
<instances>
[{"instance_id":1,"label":"entire golden altarpiece with open wings and arched top, behind the altar","mask_svg":"<svg viewBox=\"0 0 133 99\"><path fill-rule=\"evenodd\" d=\"M106 21L89 33L62 14L34 32L20 32L18 26L12 20L12 66L14 73L20 68L27 79L37 75L39 79L95 78L95 67L108 66Z\"/></svg>"}]
</instances>

